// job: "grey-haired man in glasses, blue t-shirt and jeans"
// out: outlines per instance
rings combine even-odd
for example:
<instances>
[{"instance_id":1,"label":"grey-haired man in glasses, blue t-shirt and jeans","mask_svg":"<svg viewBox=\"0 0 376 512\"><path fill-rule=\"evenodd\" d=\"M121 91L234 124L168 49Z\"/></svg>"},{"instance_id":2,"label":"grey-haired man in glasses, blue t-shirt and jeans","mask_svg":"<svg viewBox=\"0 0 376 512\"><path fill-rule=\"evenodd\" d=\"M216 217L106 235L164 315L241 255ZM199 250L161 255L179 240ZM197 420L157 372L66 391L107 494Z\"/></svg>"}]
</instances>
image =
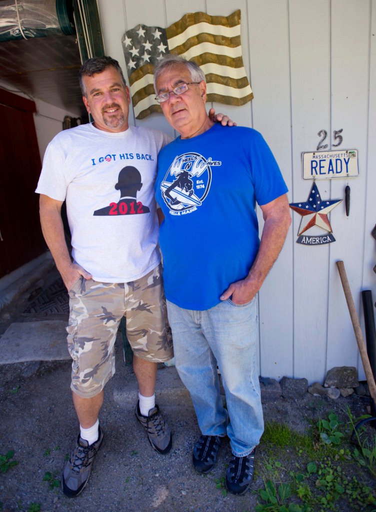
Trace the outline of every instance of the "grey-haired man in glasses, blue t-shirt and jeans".
<instances>
[{"instance_id":1,"label":"grey-haired man in glasses, blue t-shirt and jeans","mask_svg":"<svg viewBox=\"0 0 376 512\"><path fill-rule=\"evenodd\" d=\"M226 486L244 494L263 433L255 295L291 223L287 187L258 132L207 117L205 75L194 62L166 56L154 70L154 87L180 133L159 153L155 189L175 365L202 433L193 466L211 471L227 434ZM261 241L256 202L264 218Z\"/></svg>"}]
</instances>

